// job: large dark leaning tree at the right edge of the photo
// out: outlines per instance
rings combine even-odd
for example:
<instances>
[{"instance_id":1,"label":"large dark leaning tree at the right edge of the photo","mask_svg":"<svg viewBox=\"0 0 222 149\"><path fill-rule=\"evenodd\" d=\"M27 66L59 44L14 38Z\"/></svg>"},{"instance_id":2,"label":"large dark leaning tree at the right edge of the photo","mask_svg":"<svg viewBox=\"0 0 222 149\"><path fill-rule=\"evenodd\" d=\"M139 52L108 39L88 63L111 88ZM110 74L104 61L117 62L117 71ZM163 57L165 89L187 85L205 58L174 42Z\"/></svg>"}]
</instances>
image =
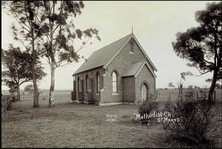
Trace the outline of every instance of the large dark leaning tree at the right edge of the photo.
<instances>
[{"instance_id":1,"label":"large dark leaning tree at the right edge of the photo","mask_svg":"<svg viewBox=\"0 0 222 149\"><path fill-rule=\"evenodd\" d=\"M207 4L206 10L197 11L198 27L177 33L172 43L177 56L187 59L200 75L213 72L208 99L213 99L216 82L222 78L222 14L221 2Z\"/></svg>"}]
</instances>

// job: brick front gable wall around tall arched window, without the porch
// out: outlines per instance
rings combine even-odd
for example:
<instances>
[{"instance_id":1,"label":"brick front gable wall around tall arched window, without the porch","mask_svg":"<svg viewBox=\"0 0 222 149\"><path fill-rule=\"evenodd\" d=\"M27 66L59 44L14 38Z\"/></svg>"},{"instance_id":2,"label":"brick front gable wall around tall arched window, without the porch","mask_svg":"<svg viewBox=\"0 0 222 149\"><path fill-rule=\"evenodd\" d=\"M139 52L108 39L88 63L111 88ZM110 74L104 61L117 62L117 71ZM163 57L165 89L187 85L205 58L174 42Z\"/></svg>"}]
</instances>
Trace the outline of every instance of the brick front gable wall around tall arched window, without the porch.
<instances>
[{"instance_id":1,"label":"brick front gable wall around tall arched window, without the porch","mask_svg":"<svg viewBox=\"0 0 222 149\"><path fill-rule=\"evenodd\" d=\"M133 41L134 53L130 53L130 42L119 52L105 70L104 91L102 102L122 102L123 101L123 79L121 76L126 72L133 62L147 61L139 46ZM149 63L147 61L147 63ZM112 72L116 70L118 75L118 95L112 95ZM125 96L125 95L124 95ZM128 96L129 97L129 96Z\"/></svg>"}]
</instances>

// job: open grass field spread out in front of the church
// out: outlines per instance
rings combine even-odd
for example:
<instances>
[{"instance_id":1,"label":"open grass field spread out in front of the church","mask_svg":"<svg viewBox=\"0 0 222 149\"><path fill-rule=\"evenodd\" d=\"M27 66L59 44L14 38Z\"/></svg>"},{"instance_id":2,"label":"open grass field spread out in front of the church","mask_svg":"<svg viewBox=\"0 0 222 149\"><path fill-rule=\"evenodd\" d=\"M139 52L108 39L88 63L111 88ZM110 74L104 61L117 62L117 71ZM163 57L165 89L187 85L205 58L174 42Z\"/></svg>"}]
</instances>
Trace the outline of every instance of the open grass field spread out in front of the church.
<instances>
[{"instance_id":1,"label":"open grass field spread out in front of the church","mask_svg":"<svg viewBox=\"0 0 222 149\"><path fill-rule=\"evenodd\" d=\"M11 111L2 114L2 148L181 147L164 141L162 124L146 126L133 121L137 106L76 104L70 102L70 92L61 91L55 93L55 107L48 108L48 99L40 97L40 108L33 109L28 96L31 97L22 96L22 101L13 103ZM217 115L212 133L208 134L216 147L221 146L220 104L215 107ZM108 121L110 116L115 116L116 121Z\"/></svg>"}]
</instances>

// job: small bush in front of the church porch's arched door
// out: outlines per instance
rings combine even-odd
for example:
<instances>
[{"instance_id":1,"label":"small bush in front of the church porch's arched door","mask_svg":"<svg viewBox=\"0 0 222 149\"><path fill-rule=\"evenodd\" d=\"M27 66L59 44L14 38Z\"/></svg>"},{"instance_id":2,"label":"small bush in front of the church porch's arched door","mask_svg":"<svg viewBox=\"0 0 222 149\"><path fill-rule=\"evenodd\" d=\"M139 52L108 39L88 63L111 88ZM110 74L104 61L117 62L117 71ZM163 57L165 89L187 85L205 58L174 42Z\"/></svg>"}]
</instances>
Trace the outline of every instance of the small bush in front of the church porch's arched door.
<instances>
[{"instance_id":1,"label":"small bush in front of the church porch's arched door","mask_svg":"<svg viewBox=\"0 0 222 149\"><path fill-rule=\"evenodd\" d=\"M151 95L148 97L148 100L142 102L142 104L139 107L139 114L141 117L142 124L148 124L149 118L148 116L158 108L158 103L156 102L156 97Z\"/></svg>"}]
</instances>

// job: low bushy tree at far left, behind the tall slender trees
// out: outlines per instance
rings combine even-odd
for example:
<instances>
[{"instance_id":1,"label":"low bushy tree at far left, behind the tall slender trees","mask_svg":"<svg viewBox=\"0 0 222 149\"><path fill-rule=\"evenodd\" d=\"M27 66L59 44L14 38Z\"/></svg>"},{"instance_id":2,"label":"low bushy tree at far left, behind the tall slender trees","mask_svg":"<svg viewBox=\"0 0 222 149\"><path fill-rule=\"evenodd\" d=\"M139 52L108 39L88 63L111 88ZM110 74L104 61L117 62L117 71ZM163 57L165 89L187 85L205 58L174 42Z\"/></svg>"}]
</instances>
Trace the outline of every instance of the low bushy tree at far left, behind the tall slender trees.
<instances>
[{"instance_id":1,"label":"low bushy tree at far left, behind the tall slender trees","mask_svg":"<svg viewBox=\"0 0 222 149\"><path fill-rule=\"evenodd\" d=\"M2 81L10 88L10 92L17 92L20 100L20 86L32 81L33 57L27 51L22 52L19 47L9 46L8 50L2 50L2 64L6 70L2 72ZM40 80L46 75L39 59L36 61L36 79Z\"/></svg>"}]
</instances>

